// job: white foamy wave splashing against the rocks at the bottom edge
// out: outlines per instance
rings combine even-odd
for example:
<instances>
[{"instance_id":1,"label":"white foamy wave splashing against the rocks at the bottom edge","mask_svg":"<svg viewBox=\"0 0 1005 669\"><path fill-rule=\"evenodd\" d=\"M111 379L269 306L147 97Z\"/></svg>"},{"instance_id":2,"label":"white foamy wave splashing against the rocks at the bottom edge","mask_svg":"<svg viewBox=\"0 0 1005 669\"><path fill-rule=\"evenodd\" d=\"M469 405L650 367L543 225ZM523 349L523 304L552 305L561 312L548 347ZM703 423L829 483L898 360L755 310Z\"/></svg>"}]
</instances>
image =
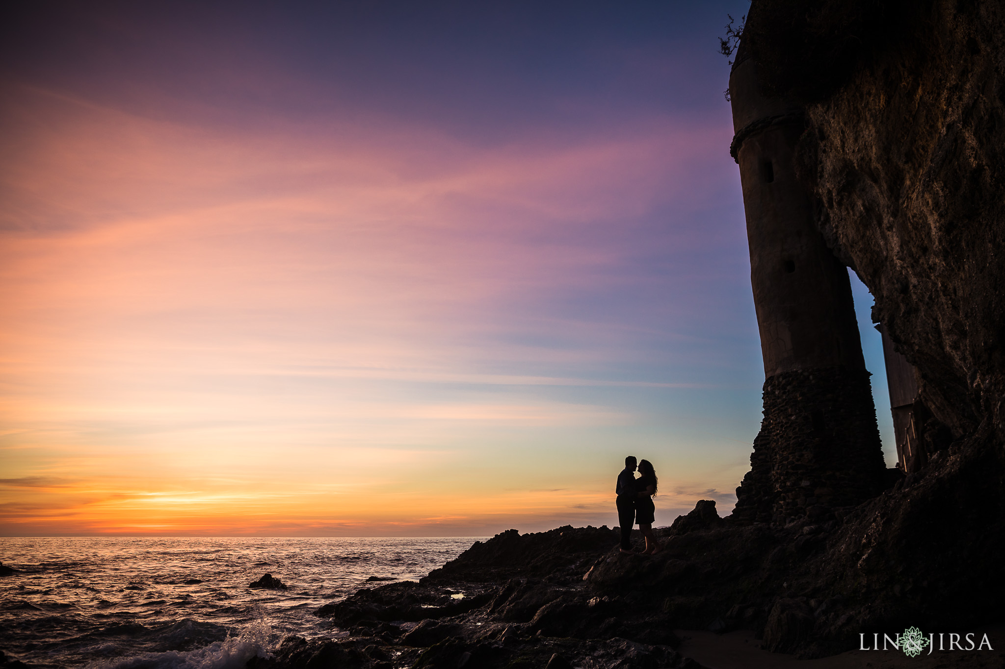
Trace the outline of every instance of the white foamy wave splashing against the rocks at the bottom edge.
<instances>
[{"instance_id":1,"label":"white foamy wave splashing against the rocks at the bottom edge","mask_svg":"<svg viewBox=\"0 0 1005 669\"><path fill-rule=\"evenodd\" d=\"M140 653L132 657L100 660L88 669L244 669L252 657L267 657L272 626L255 620L236 636L189 651Z\"/></svg>"}]
</instances>

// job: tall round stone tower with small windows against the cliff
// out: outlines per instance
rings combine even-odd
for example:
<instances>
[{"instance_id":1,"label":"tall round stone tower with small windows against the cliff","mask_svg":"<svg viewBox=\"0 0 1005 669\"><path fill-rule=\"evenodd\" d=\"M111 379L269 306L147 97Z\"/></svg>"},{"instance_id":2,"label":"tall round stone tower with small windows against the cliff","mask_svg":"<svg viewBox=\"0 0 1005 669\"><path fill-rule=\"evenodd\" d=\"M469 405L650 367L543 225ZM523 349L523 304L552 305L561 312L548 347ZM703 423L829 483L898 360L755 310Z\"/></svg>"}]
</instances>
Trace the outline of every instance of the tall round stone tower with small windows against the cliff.
<instances>
[{"instance_id":1,"label":"tall round stone tower with small windows against the cliff","mask_svg":"<svg viewBox=\"0 0 1005 669\"><path fill-rule=\"evenodd\" d=\"M885 465L847 270L814 225L793 150L802 108L760 92L743 49L730 76L751 284L764 356L764 421L733 517L784 524L857 505Z\"/></svg>"}]
</instances>

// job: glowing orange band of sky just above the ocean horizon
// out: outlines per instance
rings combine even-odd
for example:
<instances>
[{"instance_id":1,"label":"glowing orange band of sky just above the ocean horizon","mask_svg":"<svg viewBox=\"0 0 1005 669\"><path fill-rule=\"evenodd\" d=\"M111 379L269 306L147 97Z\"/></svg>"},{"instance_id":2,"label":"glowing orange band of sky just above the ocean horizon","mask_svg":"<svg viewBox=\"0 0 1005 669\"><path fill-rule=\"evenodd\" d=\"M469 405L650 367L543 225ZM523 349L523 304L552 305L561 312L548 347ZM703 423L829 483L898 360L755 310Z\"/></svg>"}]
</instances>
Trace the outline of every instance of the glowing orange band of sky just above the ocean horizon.
<instances>
[{"instance_id":1,"label":"glowing orange band of sky just above the ocean horizon","mask_svg":"<svg viewBox=\"0 0 1005 669\"><path fill-rule=\"evenodd\" d=\"M14 486L5 483L5 487ZM151 492L98 486L93 481L57 485L27 481L19 490L21 505L29 507L36 499L44 503L31 513L20 514L8 505L0 520L9 536L478 536L494 534L508 524L522 531L586 525L610 507L606 490L431 494L389 491L384 486L332 492L319 486L269 490L263 485L266 489L258 492L207 493L208 486L202 483L201 487ZM241 488L246 490L248 485L243 483ZM663 524L668 525L677 513L686 513L695 492L657 496ZM457 513L443 514L444 510ZM673 517L663 513L671 511Z\"/></svg>"}]
</instances>

